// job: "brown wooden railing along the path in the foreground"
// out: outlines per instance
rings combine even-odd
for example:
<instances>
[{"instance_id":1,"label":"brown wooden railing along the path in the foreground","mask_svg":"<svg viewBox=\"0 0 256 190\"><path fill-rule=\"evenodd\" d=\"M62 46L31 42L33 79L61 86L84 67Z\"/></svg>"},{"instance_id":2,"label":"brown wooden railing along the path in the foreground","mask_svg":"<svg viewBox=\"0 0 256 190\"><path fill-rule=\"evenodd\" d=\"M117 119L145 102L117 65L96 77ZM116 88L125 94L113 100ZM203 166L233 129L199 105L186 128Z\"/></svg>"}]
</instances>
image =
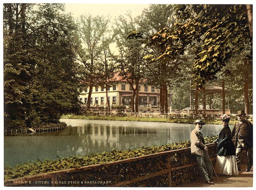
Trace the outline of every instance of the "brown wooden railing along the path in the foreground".
<instances>
[{"instance_id":1,"label":"brown wooden railing along the path in the foreground","mask_svg":"<svg viewBox=\"0 0 256 190\"><path fill-rule=\"evenodd\" d=\"M216 148L215 143L210 143L207 146L209 148L212 147L213 149ZM177 149L177 150L172 150L172 151L165 151L165 152L159 152L159 153L155 153L155 154L144 155L144 156L140 156L140 157L127 158L124 160L114 161L114 162L105 163L105 164L94 164L94 165L90 165L90 166L83 166L78 169L65 169L65 170L41 173L41 174L37 174L37 175L24 176L24 177L15 178L15 179L8 179L8 180L4 181L4 185L5 186L16 186L16 185L17 186L37 186L37 185L35 185L36 182L48 180L48 182L49 181L50 182L49 183L47 182L46 186L59 186L58 183L54 183L54 181L56 182L59 180L58 179L59 177L65 179L65 176L69 176L68 178L70 178L70 175L72 177L73 177L73 175L78 175L79 178L82 180L82 179L84 179L83 176L87 175L86 171L88 171L88 170L93 171L96 175L96 172L99 171L99 169L101 170L102 168L111 167L111 166L120 166L122 164L132 165L136 161L144 160L145 162L147 162L148 161L147 159L165 157L166 159L163 159L163 160L165 160L165 168L163 168L162 170L159 170L156 172L153 171L152 173L147 173L146 175L139 175L139 176L131 178L131 179L127 179L124 181L117 181L117 182L114 182L111 184L106 184L104 186L122 187L122 186L125 186L128 184L143 181L145 179L149 179L149 178L153 178L156 176L161 176L161 175L167 174L168 186L172 187L173 186L172 172L197 165L197 163L195 161L193 161L193 163L185 164L182 166L172 166L171 165L171 156L174 154L177 154L177 153L181 153L181 152L187 152L186 154L190 154L190 148L182 148L182 149ZM213 152L215 152L215 149ZM214 161L216 154L212 154L212 155L213 156L212 156L211 160ZM136 163L135 163L135 165L136 165ZM131 166L131 167L133 167L133 166ZM111 173L108 173L108 175L111 175ZM78 179L76 179L76 180L78 180ZM66 184L66 186L69 186L69 185ZM79 184L77 186L89 186L90 187L90 185L88 185L88 184L87 185Z\"/></svg>"}]
</instances>

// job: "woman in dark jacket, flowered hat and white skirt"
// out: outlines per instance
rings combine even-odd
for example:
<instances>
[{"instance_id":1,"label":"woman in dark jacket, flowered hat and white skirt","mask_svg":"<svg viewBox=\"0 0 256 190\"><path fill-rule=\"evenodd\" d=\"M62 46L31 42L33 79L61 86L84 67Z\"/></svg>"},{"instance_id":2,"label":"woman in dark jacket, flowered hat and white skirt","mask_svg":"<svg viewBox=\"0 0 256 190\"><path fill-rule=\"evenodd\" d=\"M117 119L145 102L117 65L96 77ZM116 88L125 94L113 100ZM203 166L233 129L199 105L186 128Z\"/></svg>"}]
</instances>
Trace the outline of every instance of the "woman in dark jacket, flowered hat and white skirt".
<instances>
[{"instance_id":1,"label":"woman in dark jacket, flowered hat and white skirt","mask_svg":"<svg viewBox=\"0 0 256 190\"><path fill-rule=\"evenodd\" d=\"M222 175L238 175L236 164L236 149L231 139L231 130L229 128L230 117L226 114L221 115L222 130L219 133L217 149L218 155L215 162L216 173Z\"/></svg>"}]
</instances>

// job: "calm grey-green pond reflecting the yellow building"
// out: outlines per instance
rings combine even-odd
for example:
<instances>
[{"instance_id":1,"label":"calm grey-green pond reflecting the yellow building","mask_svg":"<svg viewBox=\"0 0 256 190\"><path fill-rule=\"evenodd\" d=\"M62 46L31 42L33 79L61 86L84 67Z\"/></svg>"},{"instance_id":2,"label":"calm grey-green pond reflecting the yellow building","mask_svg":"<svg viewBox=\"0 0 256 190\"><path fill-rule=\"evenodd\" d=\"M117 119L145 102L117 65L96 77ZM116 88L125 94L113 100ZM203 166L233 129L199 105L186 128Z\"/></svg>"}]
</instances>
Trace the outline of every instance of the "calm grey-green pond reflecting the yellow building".
<instances>
[{"instance_id":1,"label":"calm grey-green pond reflecting the yellow building","mask_svg":"<svg viewBox=\"0 0 256 190\"><path fill-rule=\"evenodd\" d=\"M68 127L55 133L4 137L4 165L37 159L83 156L95 152L165 145L190 140L194 124L61 119ZM204 125L204 136L218 135L221 125Z\"/></svg>"}]
</instances>

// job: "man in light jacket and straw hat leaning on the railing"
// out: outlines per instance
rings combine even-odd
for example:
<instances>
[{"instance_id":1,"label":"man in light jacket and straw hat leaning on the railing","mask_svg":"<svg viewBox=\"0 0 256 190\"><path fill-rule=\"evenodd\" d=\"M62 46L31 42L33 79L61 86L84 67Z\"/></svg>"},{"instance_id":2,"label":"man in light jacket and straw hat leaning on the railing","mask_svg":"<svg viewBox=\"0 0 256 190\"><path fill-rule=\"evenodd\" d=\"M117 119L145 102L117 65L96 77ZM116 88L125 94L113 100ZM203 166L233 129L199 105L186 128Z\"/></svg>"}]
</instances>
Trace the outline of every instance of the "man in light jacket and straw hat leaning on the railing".
<instances>
[{"instance_id":1,"label":"man in light jacket and straw hat leaning on the railing","mask_svg":"<svg viewBox=\"0 0 256 190\"><path fill-rule=\"evenodd\" d=\"M195 129L191 131L191 154L195 154L197 157L198 166L203 175L204 181L207 184L214 184L212 180L212 165L207 156L206 151L208 151L207 146L204 145L204 137L201 133L201 128L204 122L201 119L197 119L193 124L195 124Z\"/></svg>"}]
</instances>

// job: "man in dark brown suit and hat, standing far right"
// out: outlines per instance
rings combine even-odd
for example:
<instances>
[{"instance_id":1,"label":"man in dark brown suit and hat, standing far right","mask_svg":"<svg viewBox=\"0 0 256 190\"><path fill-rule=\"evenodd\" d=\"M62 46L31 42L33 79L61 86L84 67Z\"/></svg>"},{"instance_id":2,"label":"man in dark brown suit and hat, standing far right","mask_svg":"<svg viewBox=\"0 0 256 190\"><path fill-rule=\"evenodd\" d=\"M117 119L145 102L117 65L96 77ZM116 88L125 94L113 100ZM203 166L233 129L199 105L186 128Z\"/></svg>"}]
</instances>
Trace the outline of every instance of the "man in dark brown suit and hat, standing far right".
<instances>
[{"instance_id":1,"label":"man in dark brown suit and hat, standing far right","mask_svg":"<svg viewBox=\"0 0 256 190\"><path fill-rule=\"evenodd\" d=\"M253 125L245 119L245 115L244 110L238 111L238 122L233 126L231 137L236 137L235 147L238 171L241 171L241 154L245 150L247 152L246 172L250 172L253 164Z\"/></svg>"}]
</instances>

